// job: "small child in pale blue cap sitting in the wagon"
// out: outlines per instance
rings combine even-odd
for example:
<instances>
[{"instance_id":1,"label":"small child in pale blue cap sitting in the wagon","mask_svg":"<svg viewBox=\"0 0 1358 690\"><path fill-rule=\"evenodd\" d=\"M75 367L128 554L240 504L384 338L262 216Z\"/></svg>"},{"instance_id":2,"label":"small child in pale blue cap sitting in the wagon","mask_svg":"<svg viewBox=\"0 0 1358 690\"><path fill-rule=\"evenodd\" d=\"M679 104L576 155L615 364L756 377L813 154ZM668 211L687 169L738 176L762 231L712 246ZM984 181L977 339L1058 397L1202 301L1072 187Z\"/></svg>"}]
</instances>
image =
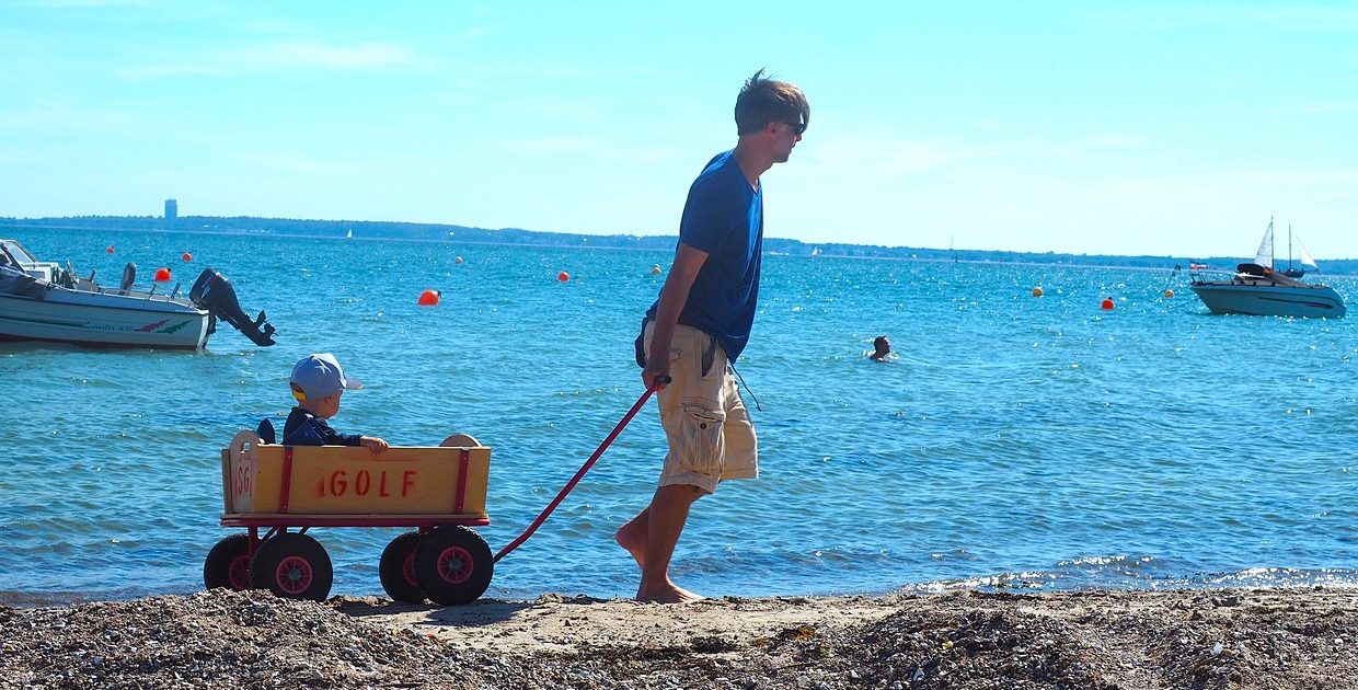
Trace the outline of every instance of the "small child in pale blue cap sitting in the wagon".
<instances>
[{"instance_id":1,"label":"small child in pale blue cap sitting in the wagon","mask_svg":"<svg viewBox=\"0 0 1358 690\"><path fill-rule=\"evenodd\" d=\"M372 452L382 452L390 447L376 436L340 433L326 422L340 412L340 397L344 391L363 387L359 379L345 378L334 355L322 352L303 357L292 367L289 384L292 397L297 398L297 406L282 425L285 446L363 446Z\"/></svg>"}]
</instances>

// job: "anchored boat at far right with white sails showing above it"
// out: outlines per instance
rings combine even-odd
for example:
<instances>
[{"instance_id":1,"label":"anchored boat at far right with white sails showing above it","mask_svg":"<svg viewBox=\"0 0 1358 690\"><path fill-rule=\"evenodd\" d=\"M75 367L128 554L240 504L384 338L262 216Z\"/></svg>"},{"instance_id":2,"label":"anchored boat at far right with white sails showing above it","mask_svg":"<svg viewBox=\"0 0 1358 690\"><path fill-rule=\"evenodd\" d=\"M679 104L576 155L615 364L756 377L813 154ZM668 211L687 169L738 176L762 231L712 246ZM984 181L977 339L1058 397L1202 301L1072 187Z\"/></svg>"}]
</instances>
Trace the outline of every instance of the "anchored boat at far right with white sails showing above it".
<instances>
[{"instance_id":1,"label":"anchored boat at far right with white sails showing above it","mask_svg":"<svg viewBox=\"0 0 1358 690\"><path fill-rule=\"evenodd\" d=\"M1291 266L1291 228L1287 228L1287 270L1272 268L1272 219L1259 243L1253 264L1236 266L1230 280L1206 280L1194 273L1188 288L1213 314L1253 314L1259 316L1328 316L1340 318L1347 311L1344 299L1328 285L1313 285L1297 278L1305 272ZM1306 247L1301 246L1301 265L1319 269Z\"/></svg>"}]
</instances>

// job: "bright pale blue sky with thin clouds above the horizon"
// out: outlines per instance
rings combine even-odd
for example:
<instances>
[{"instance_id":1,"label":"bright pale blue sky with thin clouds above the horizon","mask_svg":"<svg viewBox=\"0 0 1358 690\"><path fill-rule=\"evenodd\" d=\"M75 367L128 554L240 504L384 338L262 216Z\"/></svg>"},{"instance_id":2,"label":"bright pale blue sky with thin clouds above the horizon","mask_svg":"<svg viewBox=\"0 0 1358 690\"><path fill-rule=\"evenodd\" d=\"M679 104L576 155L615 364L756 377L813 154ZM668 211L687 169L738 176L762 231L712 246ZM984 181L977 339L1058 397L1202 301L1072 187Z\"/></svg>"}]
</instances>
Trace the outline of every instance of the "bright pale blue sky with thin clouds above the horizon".
<instances>
[{"instance_id":1,"label":"bright pale blue sky with thin clouds above the horizon","mask_svg":"<svg viewBox=\"0 0 1358 690\"><path fill-rule=\"evenodd\" d=\"M0 216L672 235L759 68L771 238L1358 258L1353 1L10 0Z\"/></svg>"}]
</instances>

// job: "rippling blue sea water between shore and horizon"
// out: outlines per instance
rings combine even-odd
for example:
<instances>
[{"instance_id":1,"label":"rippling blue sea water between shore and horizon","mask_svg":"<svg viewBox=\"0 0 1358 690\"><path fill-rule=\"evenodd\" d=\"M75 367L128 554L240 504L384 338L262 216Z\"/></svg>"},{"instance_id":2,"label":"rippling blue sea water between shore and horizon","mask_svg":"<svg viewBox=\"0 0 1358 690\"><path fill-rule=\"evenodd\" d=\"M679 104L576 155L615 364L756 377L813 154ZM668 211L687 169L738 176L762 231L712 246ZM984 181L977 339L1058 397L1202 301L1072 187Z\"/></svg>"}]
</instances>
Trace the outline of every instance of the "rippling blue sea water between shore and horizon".
<instances>
[{"instance_id":1,"label":"rippling blue sea water between shore and horizon","mask_svg":"<svg viewBox=\"0 0 1358 690\"><path fill-rule=\"evenodd\" d=\"M492 549L641 394L631 341L668 253L33 231L115 283L204 266L278 345L200 353L0 345L0 602L201 588L219 448L334 352L367 388L340 431L494 448ZM117 246L117 254L105 247ZM193 264L179 255L191 251ZM464 264L455 264L455 257ZM557 273L568 270L569 283ZM712 595L900 587L1358 584L1358 318L1211 316L1168 272L769 257L740 372L758 481L695 505L676 580ZM1331 278L1353 303L1358 281ZM1046 295L1035 299L1033 285ZM443 304L416 306L425 288ZM1104 296L1118 308L1100 311ZM864 359L888 334L896 357ZM752 401L747 395L747 402ZM612 531L664 454L644 412L488 596L630 596ZM334 594L380 594L399 530L315 530Z\"/></svg>"}]
</instances>

